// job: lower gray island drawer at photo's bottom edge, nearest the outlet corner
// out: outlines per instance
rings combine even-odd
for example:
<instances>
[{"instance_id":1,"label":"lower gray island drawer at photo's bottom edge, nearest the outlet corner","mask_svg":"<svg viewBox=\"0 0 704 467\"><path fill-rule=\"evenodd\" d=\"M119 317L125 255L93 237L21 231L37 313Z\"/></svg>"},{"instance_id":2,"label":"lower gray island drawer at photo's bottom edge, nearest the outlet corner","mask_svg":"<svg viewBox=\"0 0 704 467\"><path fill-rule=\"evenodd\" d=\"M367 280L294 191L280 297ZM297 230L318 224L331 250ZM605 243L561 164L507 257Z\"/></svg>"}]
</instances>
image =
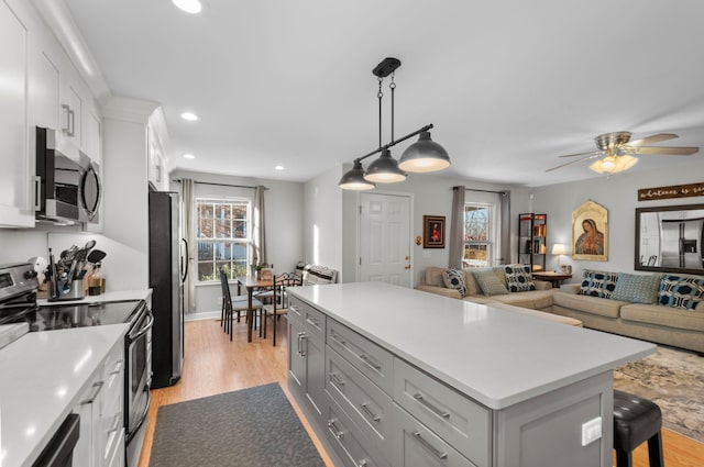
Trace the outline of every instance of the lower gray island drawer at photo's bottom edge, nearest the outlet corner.
<instances>
[{"instance_id":1,"label":"lower gray island drawer at photo's bottom edge, nearest the outlet corner","mask_svg":"<svg viewBox=\"0 0 704 467\"><path fill-rule=\"evenodd\" d=\"M394 408L394 466L477 467L404 409Z\"/></svg>"}]
</instances>

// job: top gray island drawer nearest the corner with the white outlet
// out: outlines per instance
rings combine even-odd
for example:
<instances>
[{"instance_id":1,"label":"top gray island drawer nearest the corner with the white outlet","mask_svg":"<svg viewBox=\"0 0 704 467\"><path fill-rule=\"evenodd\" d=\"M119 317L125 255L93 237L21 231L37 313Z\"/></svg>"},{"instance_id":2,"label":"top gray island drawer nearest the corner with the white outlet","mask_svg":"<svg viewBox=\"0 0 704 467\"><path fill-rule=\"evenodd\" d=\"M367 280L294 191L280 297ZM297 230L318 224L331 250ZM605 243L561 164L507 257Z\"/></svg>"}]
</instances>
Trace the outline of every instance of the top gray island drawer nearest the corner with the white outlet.
<instances>
[{"instance_id":1,"label":"top gray island drawer nearest the corner with the white outlet","mask_svg":"<svg viewBox=\"0 0 704 467\"><path fill-rule=\"evenodd\" d=\"M393 398L479 467L490 465L488 409L399 358L394 362Z\"/></svg>"}]
</instances>

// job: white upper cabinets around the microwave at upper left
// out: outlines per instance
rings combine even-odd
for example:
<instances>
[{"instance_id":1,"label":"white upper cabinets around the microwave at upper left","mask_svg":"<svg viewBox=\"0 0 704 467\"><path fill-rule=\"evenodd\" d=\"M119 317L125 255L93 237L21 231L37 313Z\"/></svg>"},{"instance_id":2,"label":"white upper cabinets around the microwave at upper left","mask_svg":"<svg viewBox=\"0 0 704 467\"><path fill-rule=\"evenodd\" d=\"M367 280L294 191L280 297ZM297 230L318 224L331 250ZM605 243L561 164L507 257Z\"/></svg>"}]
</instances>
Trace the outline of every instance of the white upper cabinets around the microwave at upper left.
<instances>
[{"instance_id":1,"label":"white upper cabinets around the microwave at upper left","mask_svg":"<svg viewBox=\"0 0 704 467\"><path fill-rule=\"evenodd\" d=\"M0 0L0 227L33 227L35 127L101 164L101 111L32 2Z\"/></svg>"}]
</instances>

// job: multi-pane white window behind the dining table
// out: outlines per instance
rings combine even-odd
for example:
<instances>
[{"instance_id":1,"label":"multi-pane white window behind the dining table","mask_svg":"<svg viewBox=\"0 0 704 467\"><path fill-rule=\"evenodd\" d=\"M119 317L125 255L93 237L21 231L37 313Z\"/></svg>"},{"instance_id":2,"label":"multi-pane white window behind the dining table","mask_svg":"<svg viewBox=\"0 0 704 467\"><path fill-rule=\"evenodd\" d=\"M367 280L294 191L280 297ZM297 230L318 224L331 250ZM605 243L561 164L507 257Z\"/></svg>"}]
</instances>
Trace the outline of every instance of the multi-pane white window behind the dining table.
<instances>
[{"instance_id":1,"label":"multi-pane white window behind the dining table","mask_svg":"<svg viewBox=\"0 0 704 467\"><path fill-rule=\"evenodd\" d=\"M242 199L196 199L198 229L198 281L220 280L246 274L250 244L250 201Z\"/></svg>"}]
</instances>

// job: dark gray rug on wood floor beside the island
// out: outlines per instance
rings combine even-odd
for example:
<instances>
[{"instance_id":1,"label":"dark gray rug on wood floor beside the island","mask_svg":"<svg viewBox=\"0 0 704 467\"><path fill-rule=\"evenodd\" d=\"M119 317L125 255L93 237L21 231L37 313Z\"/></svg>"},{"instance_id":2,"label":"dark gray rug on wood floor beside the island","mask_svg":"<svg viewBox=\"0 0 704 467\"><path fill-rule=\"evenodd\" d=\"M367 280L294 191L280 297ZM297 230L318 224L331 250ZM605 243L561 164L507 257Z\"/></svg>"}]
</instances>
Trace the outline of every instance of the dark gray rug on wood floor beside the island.
<instances>
[{"instance_id":1,"label":"dark gray rug on wood floor beside the island","mask_svg":"<svg viewBox=\"0 0 704 467\"><path fill-rule=\"evenodd\" d=\"M278 383L158 409L151 467L324 467Z\"/></svg>"}]
</instances>

